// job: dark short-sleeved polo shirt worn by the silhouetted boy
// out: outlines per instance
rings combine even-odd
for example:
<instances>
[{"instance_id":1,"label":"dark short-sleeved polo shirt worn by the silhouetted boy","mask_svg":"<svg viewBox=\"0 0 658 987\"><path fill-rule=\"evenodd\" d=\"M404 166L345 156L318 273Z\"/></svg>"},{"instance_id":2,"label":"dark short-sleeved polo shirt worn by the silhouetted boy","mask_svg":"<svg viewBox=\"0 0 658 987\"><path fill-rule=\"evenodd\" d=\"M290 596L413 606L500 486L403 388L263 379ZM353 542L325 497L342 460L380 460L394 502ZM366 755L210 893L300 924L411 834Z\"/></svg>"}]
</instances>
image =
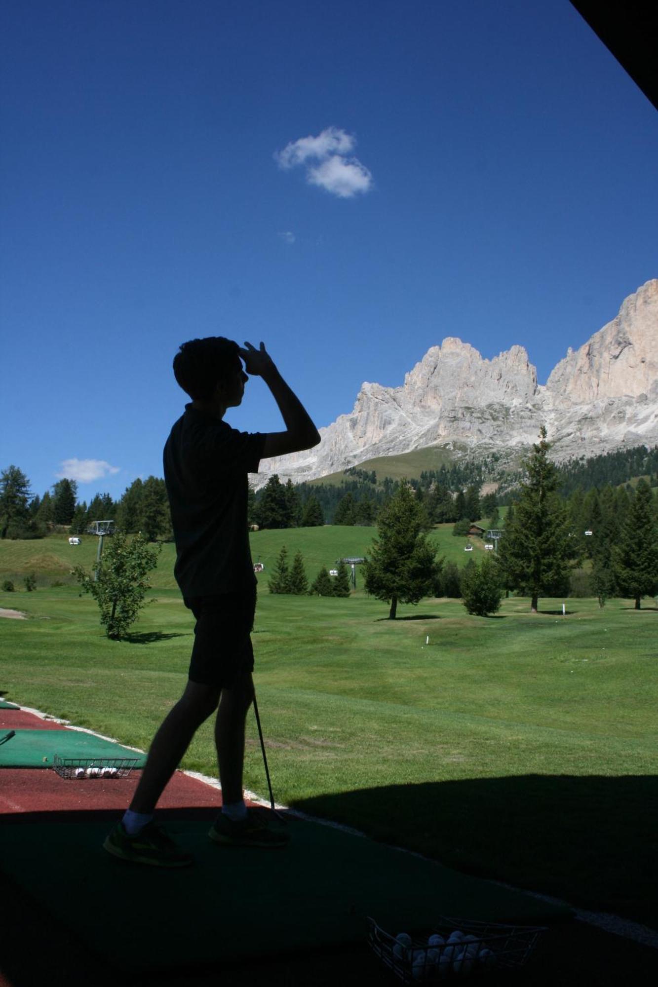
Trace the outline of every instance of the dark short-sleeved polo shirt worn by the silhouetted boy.
<instances>
[{"instance_id":1,"label":"dark short-sleeved polo shirt worn by the silhouetted boy","mask_svg":"<svg viewBox=\"0 0 658 987\"><path fill-rule=\"evenodd\" d=\"M174 575L184 596L251 588L248 473L256 473L265 435L240 432L193 406L164 447L164 476L176 540Z\"/></svg>"}]
</instances>

